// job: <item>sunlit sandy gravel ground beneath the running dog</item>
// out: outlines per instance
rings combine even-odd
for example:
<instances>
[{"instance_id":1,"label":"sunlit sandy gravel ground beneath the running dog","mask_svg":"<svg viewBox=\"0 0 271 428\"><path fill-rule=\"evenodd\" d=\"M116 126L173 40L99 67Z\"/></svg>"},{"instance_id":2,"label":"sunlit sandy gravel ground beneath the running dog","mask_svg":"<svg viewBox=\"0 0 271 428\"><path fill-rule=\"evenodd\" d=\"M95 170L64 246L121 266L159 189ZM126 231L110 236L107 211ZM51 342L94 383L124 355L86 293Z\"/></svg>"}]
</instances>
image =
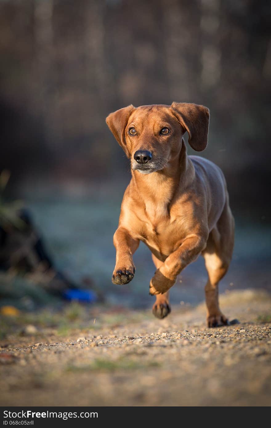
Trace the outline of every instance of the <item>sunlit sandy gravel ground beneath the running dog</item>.
<instances>
[{"instance_id":1,"label":"sunlit sandy gravel ground beneath the running dog","mask_svg":"<svg viewBox=\"0 0 271 428\"><path fill-rule=\"evenodd\" d=\"M0 405L271 405L270 295L231 291L221 306L240 324L206 328L204 304L174 306L164 320L98 307L70 312L61 328L67 312L9 317Z\"/></svg>"}]
</instances>

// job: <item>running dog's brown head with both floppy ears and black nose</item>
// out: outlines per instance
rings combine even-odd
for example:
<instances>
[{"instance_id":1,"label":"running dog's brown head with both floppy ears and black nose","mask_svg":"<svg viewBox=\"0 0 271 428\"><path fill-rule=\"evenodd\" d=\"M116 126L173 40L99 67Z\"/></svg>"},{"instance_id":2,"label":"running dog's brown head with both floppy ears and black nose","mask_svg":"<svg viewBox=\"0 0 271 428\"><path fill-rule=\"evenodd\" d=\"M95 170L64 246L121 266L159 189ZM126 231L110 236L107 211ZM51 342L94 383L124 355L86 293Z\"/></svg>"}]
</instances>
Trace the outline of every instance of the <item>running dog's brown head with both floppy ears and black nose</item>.
<instances>
[{"instance_id":1,"label":"running dog's brown head with both floppy ears and black nose","mask_svg":"<svg viewBox=\"0 0 271 428\"><path fill-rule=\"evenodd\" d=\"M164 169L188 143L201 152L208 142L209 110L197 104L129 105L106 118L110 131L131 158L131 168L143 174Z\"/></svg>"}]
</instances>

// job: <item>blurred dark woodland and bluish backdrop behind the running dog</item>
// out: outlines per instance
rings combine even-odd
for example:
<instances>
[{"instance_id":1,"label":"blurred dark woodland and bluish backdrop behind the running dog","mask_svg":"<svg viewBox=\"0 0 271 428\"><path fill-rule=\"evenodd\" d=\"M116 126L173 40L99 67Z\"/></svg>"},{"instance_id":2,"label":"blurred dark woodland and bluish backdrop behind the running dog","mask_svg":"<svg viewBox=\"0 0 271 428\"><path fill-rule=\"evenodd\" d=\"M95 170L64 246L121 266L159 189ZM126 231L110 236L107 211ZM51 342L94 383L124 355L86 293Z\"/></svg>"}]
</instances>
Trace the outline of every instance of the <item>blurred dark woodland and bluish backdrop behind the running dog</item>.
<instances>
[{"instance_id":1,"label":"blurred dark woodland and bluish backdrop behind the running dog","mask_svg":"<svg viewBox=\"0 0 271 428\"><path fill-rule=\"evenodd\" d=\"M152 306L155 268L143 244L131 284L111 284L130 172L104 119L172 101L210 109L200 156L223 169L236 220L221 290L271 289L270 16L257 0L0 1L2 306L36 309L66 288L111 306ZM199 259L173 302L200 302L205 282Z\"/></svg>"}]
</instances>

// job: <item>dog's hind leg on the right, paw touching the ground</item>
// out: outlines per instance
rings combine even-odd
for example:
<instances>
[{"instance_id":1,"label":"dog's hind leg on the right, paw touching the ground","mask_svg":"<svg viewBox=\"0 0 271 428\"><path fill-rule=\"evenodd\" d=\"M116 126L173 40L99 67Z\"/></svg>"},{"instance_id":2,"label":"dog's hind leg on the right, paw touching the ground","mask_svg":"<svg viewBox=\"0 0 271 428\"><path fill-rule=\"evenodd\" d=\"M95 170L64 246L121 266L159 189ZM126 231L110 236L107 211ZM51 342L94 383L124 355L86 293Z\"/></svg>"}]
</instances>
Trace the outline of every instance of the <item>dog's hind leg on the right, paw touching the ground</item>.
<instances>
[{"instance_id":1,"label":"dog's hind leg on the right, paw touching the ground","mask_svg":"<svg viewBox=\"0 0 271 428\"><path fill-rule=\"evenodd\" d=\"M232 259L234 244L234 220L228 204L210 232L207 245L202 255L208 272L208 282L205 285L207 306L207 326L217 327L228 324L227 318L220 311L218 303L218 282L226 274Z\"/></svg>"}]
</instances>

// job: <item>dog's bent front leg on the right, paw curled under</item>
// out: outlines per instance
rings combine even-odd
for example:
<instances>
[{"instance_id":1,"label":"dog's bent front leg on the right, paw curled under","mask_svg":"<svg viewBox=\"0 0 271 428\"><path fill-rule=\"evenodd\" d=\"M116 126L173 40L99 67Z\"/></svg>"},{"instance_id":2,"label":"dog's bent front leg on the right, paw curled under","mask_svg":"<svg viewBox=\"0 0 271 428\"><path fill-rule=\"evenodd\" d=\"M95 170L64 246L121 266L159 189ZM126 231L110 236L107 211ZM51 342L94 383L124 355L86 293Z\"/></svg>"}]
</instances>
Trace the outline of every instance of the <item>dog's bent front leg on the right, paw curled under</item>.
<instances>
[{"instance_id":1,"label":"dog's bent front leg on the right, paw curled under","mask_svg":"<svg viewBox=\"0 0 271 428\"><path fill-rule=\"evenodd\" d=\"M190 235L180 247L171 253L163 265L156 270L150 282L150 294L165 293L175 284L177 275L189 263L194 262L206 246L206 238L199 235Z\"/></svg>"}]
</instances>

